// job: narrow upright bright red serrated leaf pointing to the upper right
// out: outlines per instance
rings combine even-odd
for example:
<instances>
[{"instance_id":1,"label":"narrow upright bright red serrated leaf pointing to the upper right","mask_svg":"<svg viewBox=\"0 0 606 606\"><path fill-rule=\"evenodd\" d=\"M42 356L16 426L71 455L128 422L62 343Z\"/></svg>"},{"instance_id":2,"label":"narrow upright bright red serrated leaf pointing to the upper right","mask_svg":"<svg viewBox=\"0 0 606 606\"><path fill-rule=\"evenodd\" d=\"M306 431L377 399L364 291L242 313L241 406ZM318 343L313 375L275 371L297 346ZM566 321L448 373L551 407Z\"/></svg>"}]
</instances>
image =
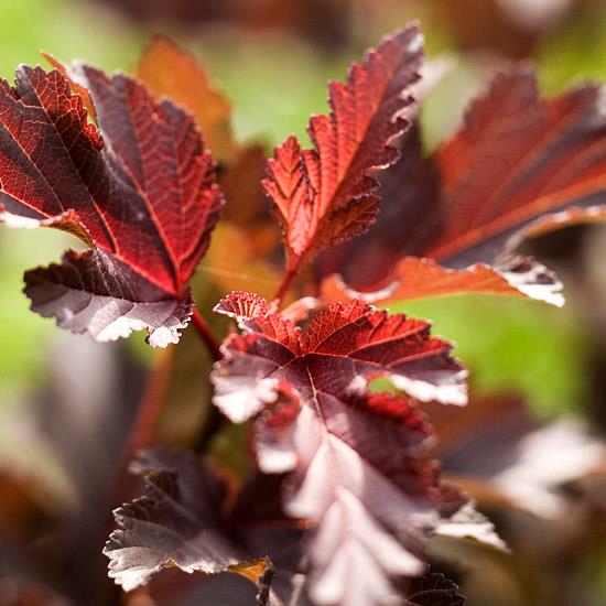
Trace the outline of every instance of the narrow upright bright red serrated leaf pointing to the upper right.
<instances>
[{"instance_id":1,"label":"narrow upright bright red serrated leaf pointing to the upper right","mask_svg":"<svg viewBox=\"0 0 606 606\"><path fill-rule=\"evenodd\" d=\"M329 85L331 115L310 122L313 149L301 150L294 137L275 149L263 185L275 204L290 271L375 220L378 183L370 175L398 159L391 143L407 127L402 112L421 59L415 25L386 37L351 66L347 84Z\"/></svg>"}]
</instances>

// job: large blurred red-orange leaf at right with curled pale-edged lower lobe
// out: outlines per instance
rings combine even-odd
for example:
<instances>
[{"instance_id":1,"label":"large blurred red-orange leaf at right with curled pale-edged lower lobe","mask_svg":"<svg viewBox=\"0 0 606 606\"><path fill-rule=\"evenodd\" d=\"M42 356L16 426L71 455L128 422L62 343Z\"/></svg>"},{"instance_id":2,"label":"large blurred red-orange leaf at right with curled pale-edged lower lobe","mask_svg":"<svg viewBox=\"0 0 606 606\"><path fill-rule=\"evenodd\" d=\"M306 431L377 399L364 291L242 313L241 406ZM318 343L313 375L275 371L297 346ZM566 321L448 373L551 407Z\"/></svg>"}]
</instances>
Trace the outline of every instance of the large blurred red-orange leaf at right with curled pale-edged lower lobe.
<instances>
[{"instance_id":1,"label":"large blurred red-orange leaf at right with curled pale-edged lower lobe","mask_svg":"<svg viewBox=\"0 0 606 606\"><path fill-rule=\"evenodd\" d=\"M346 273L364 291L350 295L372 301L485 292L561 305L562 284L554 273L513 251L524 238L573 223L605 220L603 97L600 87L585 85L541 100L528 67L500 74L472 105L461 131L431 156L433 169L428 170L441 181L439 193L424 186L424 171L407 172L419 162L413 150L386 173L383 204L401 223L376 226L369 235L381 244L365 248L365 256L375 258L376 250L390 242L390 226L397 224L402 252L426 256L444 267L407 258L396 275L381 281L380 271L370 271L358 282L355 269L343 262L333 264L333 271ZM418 191L420 196L409 195ZM396 258L383 255L380 266L393 267ZM335 279L331 282L334 288Z\"/></svg>"}]
</instances>

